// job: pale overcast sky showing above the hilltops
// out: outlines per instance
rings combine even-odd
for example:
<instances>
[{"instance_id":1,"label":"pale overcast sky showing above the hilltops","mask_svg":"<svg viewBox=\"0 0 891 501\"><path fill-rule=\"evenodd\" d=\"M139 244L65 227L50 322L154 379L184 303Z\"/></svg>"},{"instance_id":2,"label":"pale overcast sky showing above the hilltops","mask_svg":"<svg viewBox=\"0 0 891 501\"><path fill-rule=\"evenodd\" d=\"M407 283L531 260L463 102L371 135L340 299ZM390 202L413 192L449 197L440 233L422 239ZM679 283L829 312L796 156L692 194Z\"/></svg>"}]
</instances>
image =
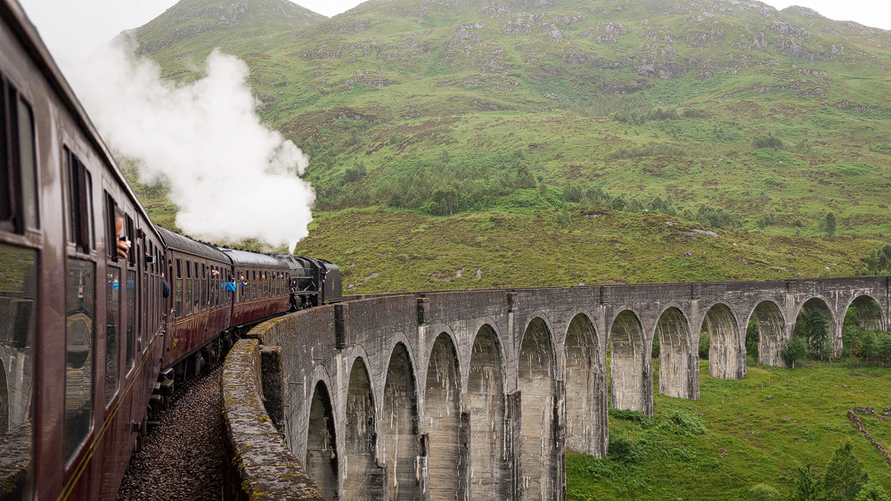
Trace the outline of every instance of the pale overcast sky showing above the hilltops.
<instances>
[{"instance_id":1,"label":"pale overcast sky showing above the hilltops","mask_svg":"<svg viewBox=\"0 0 891 501\"><path fill-rule=\"evenodd\" d=\"M124 29L142 26L177 0L20 0L46 45L57 56L86 55ZM805 5L835 20L857 21L891 29L888 0L765 0L782 9ZM359 0L299 0L307 9L326 16L361 4Z\"/></svg>"}]
</instances>

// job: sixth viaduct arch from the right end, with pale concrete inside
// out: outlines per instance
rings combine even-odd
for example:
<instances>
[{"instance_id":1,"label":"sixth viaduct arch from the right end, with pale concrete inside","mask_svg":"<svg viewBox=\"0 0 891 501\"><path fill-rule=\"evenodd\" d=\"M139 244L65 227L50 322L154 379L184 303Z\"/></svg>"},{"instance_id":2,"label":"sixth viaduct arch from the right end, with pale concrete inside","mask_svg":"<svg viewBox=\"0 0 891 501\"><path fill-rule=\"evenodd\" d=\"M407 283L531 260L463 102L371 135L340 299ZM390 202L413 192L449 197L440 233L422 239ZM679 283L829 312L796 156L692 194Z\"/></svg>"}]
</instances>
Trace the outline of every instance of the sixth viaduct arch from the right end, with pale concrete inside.
<instances>
[{"instance_id":1,"label":"sixth viaduct arch from the right end, with pale concrete inside","mask_svg":"<svg viewBox=\"0 0 891 501\"><path fill-rule=\"evenodd\" d=\"M653 414L652 368L640 318L620 311L609 327L609 407Z\"/></svg>"}]
</instances>

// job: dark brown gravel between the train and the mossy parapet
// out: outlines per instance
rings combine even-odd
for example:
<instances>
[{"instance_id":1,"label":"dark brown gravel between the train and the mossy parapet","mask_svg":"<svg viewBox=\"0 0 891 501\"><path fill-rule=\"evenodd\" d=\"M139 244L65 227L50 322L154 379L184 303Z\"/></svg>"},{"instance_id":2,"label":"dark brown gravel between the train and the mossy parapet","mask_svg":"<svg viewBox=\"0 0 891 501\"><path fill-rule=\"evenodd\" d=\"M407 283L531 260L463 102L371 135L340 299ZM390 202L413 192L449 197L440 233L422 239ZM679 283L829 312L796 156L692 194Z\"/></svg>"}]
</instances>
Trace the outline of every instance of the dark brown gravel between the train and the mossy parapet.
<instances>
[{"instance_id":1,"label":"dark brown gravel between the train and the mossy parapet","mask_svg":"<svg viewBox=\"0 0 891 501\"><path fill-rule=\"evenodd\" d=\"M217 365L177 394L130 458L119 501L222 498L222 372Z\"/></svg>"}]
</instances>

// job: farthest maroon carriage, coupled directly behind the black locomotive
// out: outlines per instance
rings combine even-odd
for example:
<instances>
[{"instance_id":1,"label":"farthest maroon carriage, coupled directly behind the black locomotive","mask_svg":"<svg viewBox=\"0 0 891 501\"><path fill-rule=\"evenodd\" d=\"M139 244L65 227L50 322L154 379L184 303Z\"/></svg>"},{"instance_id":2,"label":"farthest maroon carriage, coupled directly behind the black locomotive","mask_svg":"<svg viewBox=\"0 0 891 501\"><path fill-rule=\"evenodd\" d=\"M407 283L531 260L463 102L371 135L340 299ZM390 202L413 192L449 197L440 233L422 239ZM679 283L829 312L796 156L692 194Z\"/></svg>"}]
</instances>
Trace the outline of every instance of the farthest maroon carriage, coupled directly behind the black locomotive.
<instances>
[{"instance_id":1,"label":"farthest maroon carriage, coupled directly behind the black locomotive","mask_svg":"<svg viewBox=\"0 0 891 501\"><path fill-rule=\"evenodd\" d=\"M223 249L235 272L232 325L257 324L290 309L290 267L264 254Z\"/></svg>"}]
</instances>

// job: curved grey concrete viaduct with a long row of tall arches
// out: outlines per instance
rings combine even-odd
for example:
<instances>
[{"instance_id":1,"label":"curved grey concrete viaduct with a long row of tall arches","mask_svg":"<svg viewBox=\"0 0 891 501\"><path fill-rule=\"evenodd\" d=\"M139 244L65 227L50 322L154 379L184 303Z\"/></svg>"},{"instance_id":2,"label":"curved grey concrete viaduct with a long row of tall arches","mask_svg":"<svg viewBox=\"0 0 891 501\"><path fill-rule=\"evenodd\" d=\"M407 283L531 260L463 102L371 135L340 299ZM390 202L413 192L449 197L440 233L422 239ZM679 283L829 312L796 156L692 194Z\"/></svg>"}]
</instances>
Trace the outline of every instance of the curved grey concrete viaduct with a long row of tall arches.
<instances>
[{"instance_id":1,"label":"curved grey concrete viaduct with a long row of tall arches","mask_svg":"<svg viewBox=\"0 0 891 501\"><path fill-rule=\"evenodd\" d=\"M887 326L888 292L881 276L354 296L249 337L325 498L559 500L567 449L606 455L608 408L652 415L654 339L655 390L697 399L700 336L709 374L741 379L750 319L759 362L782 365L799 311L824 312L838 351L851 305Z\"/></svg>"}]
</instances>

